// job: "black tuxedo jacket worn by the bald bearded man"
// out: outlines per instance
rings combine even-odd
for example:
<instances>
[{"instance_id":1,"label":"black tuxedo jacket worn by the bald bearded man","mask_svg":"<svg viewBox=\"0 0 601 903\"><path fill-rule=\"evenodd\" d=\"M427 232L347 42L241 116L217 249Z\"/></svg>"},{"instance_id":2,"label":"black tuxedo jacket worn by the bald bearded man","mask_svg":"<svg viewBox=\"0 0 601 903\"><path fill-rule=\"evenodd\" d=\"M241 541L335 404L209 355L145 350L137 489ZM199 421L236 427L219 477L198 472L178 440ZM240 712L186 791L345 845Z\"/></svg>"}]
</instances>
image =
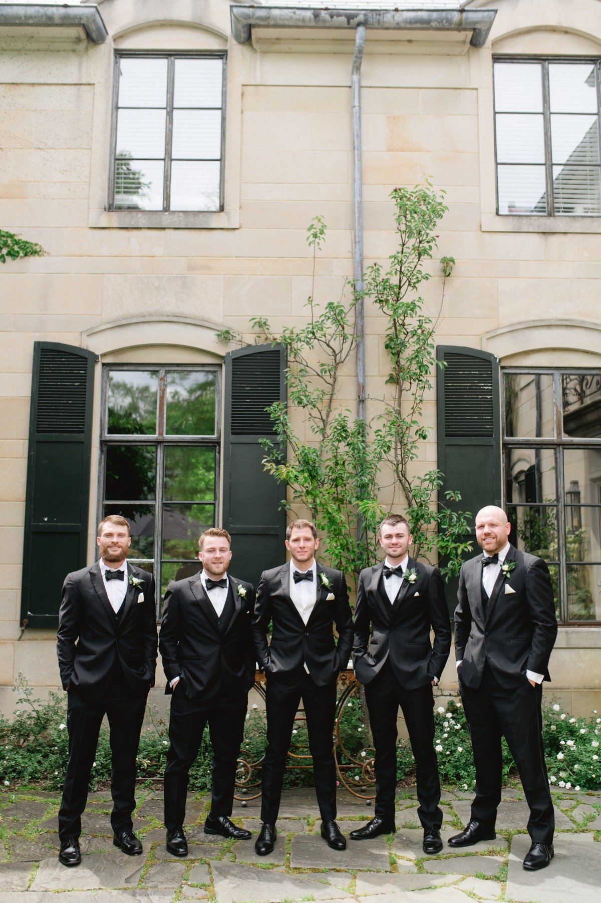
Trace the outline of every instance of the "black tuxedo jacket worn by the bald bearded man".
<instances>
[{"instance_id":1,"label":"black tuxedo jacket worn by the bald bearded man","mask_svg":"<svg viewBox=\"0 0 601 903\"><path fill-rule=\"evenodd\" d=\"M478 687L486 660L507 690L523 684L527 670L550 680L557 619L549 568L541 558L510 545L505 562L515 562L515 567L507 577L499 573L485 612L482 561L482 555L471 558L459 573L455 653L462 659L461 682Z\"/></svg>"}]
</instances>

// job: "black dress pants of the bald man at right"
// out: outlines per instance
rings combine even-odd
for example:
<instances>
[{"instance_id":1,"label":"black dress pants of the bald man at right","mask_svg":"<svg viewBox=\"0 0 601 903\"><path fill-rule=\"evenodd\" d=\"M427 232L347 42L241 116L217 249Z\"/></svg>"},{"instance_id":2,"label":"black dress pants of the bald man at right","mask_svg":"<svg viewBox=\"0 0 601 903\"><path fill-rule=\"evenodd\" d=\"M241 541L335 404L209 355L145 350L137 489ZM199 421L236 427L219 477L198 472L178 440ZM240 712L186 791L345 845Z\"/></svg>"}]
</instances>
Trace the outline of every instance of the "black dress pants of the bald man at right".
<instances>
[{"instance_id":1,"label":"black dress pants of the bald man at right","mask_svg":"<svg viewBox=\"0 0 601 903\"><path fill-rule=\"evenodd\" d=\"M486 663L482 683L476 690L464 686L459 692L466 712L476 765L476 797L472 818L495 826L496 807L501 802L503 765L501 737L513 756L524 796L530 806L528 833L535 843L551 843L555 815L551 802L541 735L541 684L523 678L510 690L496 680Z\"/></svg>"}]
</instances>

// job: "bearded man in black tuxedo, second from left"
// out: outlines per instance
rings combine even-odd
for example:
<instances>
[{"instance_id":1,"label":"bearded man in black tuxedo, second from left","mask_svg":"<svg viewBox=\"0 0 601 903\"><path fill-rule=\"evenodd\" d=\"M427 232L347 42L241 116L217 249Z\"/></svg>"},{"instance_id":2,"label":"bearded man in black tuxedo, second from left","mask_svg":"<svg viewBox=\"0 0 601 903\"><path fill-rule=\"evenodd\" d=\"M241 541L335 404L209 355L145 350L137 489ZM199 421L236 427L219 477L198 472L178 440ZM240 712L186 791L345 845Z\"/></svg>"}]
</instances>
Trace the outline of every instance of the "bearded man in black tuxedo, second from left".
<instances>
[{"instance_id":1,"label":"bearded man in black tuxedo, second from left","mask_svg":"<svg viewBox=\"0 0 601 903\"><path fill-rule=\"evenodd\" d=\"M254 684L251 618L254 587L227 573L231 537L211 527L199 538L202 570L170 584L165 593L159 649L171 697L165 767L167 850L187 856L183 831L190 768L208 723L213 747L211 808L205 833L248 840L229 816L237 759L245 729L248 691Z\"/></svg>"}]
</instances>

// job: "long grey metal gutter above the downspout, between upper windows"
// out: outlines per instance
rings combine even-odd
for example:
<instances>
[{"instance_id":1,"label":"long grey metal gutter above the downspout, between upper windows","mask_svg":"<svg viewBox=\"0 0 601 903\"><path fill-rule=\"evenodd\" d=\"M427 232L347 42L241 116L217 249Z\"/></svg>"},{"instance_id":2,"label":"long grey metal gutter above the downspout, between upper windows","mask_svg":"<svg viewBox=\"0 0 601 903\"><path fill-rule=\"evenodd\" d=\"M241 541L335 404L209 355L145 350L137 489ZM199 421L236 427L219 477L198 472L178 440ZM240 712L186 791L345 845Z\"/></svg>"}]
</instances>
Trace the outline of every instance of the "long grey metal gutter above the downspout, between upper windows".
<instances>
[{"instance_id":1,"label":"long grey metal gutter above the downspout, between upper windows","mask_svg":"<svg viewBox=\"0 0 601 903\"><path fill-rule=\"evenodd\" d=\"M483 47L495 9L315 9L291 6L230 6L232 34L250 41L251 28L365 28L397 31L471 32L472 47Z\"/></svg>"}]
</instances>

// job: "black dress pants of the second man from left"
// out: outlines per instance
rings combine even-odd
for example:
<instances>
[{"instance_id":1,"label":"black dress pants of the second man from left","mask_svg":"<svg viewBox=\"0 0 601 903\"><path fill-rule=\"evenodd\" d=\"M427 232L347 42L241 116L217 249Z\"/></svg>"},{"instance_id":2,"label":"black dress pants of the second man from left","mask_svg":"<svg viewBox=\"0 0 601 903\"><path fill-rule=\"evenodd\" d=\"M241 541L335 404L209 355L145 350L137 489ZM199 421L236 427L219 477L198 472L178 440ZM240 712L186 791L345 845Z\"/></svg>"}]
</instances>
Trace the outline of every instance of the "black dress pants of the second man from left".
<instances>
[{"instance_id":1,"label":"black dress pants of the second man from left","mask_svg":"<svg viewBox=\"0 0 601 903\"><path fill-rule=\"evenodd\" d=\"M190 768L199 755L207 723L213 747L211 815L232 814L237 761L248 704L248 694L228 693L223 687L210 703L203 703L202 699L191 700L183 689L184 684L180 681L171 696L171 746L164 780L165 827L168 831L184 824Z\"/></svg>"}]
</instances>

